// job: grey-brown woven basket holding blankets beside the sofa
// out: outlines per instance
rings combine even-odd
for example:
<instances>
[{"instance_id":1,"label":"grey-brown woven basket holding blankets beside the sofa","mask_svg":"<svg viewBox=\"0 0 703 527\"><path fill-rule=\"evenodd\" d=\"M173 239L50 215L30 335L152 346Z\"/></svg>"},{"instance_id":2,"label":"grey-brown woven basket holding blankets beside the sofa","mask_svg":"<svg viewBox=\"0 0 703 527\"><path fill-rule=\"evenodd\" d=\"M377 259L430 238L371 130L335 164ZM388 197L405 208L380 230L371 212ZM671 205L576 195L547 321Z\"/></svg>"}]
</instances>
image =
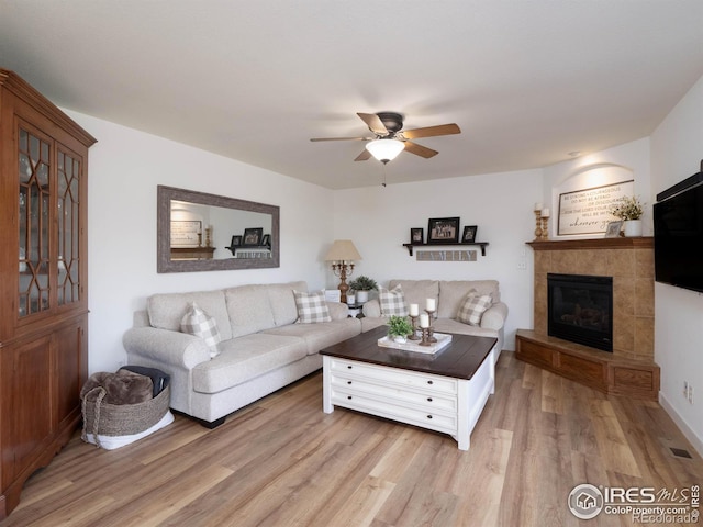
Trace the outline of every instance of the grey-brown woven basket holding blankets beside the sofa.
<instances>
[{"instance_id":1,"label":"grey-brown woven basket holding blankets beside the sofa","mask_svg":"<svg viewBox=\"0 0 703 527\"><path fill-rule=\"evenodd\" d=\"M94 401L88 401L91 394L96 395ZM103 403L104 395L104 388L97 386L89 391L81 401L82 438L86 440L86 435L92 434L98 446L100 446L98 435L131 436L156 425L168 412L171 388L167 385L156 397L138 404Z\"/></svg>"}]
</instances>

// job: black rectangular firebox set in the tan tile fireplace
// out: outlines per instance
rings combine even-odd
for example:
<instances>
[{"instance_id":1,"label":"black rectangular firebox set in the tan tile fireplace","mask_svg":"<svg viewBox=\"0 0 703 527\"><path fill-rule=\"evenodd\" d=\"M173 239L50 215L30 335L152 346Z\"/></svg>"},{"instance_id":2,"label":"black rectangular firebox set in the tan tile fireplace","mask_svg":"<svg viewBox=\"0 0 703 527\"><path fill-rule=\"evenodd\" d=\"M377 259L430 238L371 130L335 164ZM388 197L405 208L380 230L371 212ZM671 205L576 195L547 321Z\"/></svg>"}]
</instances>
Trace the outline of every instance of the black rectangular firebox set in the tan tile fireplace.
<instances>
[{"instance_id":1,"label":"black rectangular firebox set in the tan tile fireplace","mask_svg":"<svg viewBox=\"0 0 703 527\"><path fill-rule=\"evenodd\" d=\"M613 351L613 278L547 274L547 332L553 337Z\"/></svg>"}]
</instances>

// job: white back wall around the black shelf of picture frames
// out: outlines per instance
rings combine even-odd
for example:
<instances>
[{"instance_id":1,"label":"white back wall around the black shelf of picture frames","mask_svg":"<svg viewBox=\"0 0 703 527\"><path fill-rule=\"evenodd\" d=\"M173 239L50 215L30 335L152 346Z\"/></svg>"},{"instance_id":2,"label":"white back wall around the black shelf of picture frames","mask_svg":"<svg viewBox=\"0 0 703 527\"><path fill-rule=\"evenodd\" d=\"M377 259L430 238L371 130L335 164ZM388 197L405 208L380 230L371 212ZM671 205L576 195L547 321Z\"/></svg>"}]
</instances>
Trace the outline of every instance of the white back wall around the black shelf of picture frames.
<instances>
[{"instance_id":1,"label":"white back wall around the black shelf of picture frames","mask_svg":"<svg viewBox=\"0 0 703 527\"><path fill-rule=\"evenodd\" d=\"M367 274L387 285L393 278L495 279L509 305L505 349L515 349L515 329L532 328L533 205L543 195L542 170L470 176L414 183L368 187L335 192L335 238L349 238L364 258L355 276ZM477 261L433 262L410 257L402 244L410 229L431 217L461 218L478 225L477 240L488 242ZM448 247L451 249L453 247ZM478 249L478 248L477 248ZM518 270L521 260L526 269ZM336 282L328 278L328 287Z\"/></svg>"}]
</instances>

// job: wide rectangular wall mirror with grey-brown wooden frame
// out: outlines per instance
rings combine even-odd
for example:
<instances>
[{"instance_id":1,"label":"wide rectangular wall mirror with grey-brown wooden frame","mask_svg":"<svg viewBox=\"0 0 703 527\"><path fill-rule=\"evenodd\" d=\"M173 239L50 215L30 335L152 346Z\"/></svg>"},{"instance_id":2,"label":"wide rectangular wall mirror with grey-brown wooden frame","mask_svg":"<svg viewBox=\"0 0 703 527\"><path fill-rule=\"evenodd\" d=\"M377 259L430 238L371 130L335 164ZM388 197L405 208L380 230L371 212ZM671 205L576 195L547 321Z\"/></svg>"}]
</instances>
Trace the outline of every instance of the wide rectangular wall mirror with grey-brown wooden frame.
<instances>
[{"instance_id":1,"label":"wide rectangular wall mirror with grey-brown wooden frame","mask_svg":"<svg viewBox=\"0 0 703 527\"><path fill-rule=\"evenodd\" d=\"M279 267L279 208L157 187L157 272Z\"/></svg>"}]
</instances>

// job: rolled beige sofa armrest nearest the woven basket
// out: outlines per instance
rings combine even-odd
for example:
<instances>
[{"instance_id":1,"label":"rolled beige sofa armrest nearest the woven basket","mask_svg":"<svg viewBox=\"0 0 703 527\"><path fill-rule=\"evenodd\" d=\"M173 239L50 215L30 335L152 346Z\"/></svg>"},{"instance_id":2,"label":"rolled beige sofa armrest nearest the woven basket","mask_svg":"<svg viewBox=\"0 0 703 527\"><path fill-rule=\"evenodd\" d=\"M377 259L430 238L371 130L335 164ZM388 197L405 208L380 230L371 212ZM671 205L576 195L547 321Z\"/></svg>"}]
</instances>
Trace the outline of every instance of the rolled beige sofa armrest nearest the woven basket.
<instances>
[{"instance_id":1,"label":"rolled beige sofa armrest nearest the woven basket","mask_svg":"<svg viewBox=\"0 0 703 527\"><path fill-rule=\"evenodd\" d=\"M127 355L140 355L187 370L210 360L210 348L205 341L187 333L156 327L133 327L125 332L122 344Z\"/></svg>"}]
</instances>

